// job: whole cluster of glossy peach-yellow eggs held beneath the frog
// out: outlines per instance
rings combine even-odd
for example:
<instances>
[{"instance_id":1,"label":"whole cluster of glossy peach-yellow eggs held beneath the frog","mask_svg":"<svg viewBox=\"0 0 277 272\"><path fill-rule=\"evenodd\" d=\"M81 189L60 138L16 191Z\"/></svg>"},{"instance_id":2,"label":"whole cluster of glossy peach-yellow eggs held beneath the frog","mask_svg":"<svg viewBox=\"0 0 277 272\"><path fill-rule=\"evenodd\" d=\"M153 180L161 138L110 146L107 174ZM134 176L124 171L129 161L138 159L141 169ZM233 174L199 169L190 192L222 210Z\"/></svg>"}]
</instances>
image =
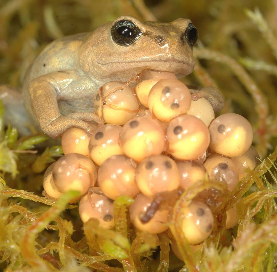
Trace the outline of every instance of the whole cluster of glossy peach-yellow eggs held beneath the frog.
<instances>
[{"instance_id":1,"label":"whole cluster of glossy peach-yellow eggs held beneath the frog","mask_svg":"<svg viewBox=\"0 0 277 272\"><path fill-rule=\"evenodd\" d=\"M52 198L80 191L83 222L97 218L102 227L113 228L113 201L127 195L134 198L129 207L134 227L160 233L169 227L170 207L142 220L158 194L184 191L206 176L226 182L232 191L244 169L255 168L258 154L251 147L249 122L234 113L215 118L211 104L203 97L193 101L173 73L143 70L134 88L130 82L108 82L95 96L94 109L100 122L90 124L93 134L67 130L65 155L47 169L43 183ZM200 199L183 209L182 230L190 244L211 234L213 218ZM234 207L227 211L226 228L236 223Z\"/></svg>"}]
</instances>

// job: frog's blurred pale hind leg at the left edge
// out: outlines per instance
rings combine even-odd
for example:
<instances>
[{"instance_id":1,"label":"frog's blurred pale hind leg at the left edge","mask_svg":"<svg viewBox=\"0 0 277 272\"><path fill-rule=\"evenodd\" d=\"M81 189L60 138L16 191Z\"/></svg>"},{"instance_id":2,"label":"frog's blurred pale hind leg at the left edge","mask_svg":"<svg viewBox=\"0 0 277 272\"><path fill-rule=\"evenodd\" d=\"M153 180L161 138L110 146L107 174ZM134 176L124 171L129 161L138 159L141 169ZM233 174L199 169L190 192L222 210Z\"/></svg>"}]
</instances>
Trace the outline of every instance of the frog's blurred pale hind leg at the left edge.
<instances>
[{"instance_id":1,"label":"frog's blurred pale hind leg at the left edge","mask_svg":"<svg viewBox=\"0 0 277 272\"><path fill-rule=\"evenodd\" d=\"M21 136L32 134L31 127L36 124L31 120L19 90L8 85L0 85L0 99L5 108L5 124L17 128L18 134Z\"/></svg>"}]
</instances>

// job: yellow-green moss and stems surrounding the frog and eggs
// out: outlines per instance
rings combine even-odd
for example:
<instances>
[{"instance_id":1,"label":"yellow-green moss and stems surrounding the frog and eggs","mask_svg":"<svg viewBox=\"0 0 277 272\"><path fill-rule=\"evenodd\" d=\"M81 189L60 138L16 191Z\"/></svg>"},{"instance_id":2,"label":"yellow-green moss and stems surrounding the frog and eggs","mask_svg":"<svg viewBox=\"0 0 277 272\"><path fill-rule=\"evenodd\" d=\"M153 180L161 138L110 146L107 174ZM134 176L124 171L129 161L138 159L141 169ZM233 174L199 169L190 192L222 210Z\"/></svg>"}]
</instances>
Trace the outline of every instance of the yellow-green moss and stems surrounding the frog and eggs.
<instances>
[{"instance_id":1,"label":"yellow-green moss and stems surrounding the frog and eggs","mask_svg":"<svg viewBox=\"0 0 277 272\"><path fill-rule=\"evenodd\" d=\"M188 85L214 85L225 96L220 112L245 116L261 156L233 192L202 180L183 193L170 230L185 261L170 250L171 235L130 227L132 199L114 202L115 229L84 225L70 191L58 201L41 196L45 168L62 155L39 145L46 136L18 138L4 128L0 105L0 270L5 271L276 271L277 269L277 4L266 0L0 0L0 84L20 87L34 57L53 39L91 31L120 15L169 22L191 18L199 30ZM38 151L38 152L37 152ZM212 235L193 253L180 214L199 192L213 187L222 203ZM239 202L238 202L239 200ZM239 224L225 230L237 203Z\"/></svg>"}]
</instances>

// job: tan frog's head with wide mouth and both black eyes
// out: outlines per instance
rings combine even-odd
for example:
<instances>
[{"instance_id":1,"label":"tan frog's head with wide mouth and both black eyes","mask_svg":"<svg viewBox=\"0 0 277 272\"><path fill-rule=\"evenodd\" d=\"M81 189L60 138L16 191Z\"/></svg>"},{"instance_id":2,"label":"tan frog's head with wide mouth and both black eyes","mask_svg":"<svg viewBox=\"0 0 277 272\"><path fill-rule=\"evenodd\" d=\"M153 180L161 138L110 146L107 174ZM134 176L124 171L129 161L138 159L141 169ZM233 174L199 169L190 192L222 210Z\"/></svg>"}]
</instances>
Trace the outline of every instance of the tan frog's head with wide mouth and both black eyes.
<instances>
[{"instance_id":1,"label":"tan frog's head with wide mouth and both black eyes","mask_svg":"<svg viewBox=\"0 0 277 272\"><path fill-rule=\"evenodd\" d=\"M192 47L198 37L188 19L171 23L141 22L122 16L91 34L81 48L83 69L99 79L126 81L143 69L192 72Z\"/></svg>"}]
</instances>

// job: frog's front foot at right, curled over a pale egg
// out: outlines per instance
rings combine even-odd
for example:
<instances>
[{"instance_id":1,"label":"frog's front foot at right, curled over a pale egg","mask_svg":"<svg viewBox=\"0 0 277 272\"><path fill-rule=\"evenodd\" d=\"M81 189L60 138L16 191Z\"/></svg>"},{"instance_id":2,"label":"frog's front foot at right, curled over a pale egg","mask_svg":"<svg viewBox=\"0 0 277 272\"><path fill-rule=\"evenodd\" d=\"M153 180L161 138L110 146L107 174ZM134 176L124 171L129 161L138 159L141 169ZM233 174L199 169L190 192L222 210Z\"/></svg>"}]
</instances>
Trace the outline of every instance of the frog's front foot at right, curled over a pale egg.
<instances>
[{"instance_id":1,"label":"frog's front foot at right, curled over a pale egg","mask_svg":"<svg viewBox=\"0 0 277 272\"><path fill-rule=\"evenodd\" d=\"M224 97L222 93L220 93L219 90L213 86L189 90L191 92L192 100L198 100L201 97L206 98L212 105L215 113L219 112L224 107Z\"/></svg>"}]
</instances>

